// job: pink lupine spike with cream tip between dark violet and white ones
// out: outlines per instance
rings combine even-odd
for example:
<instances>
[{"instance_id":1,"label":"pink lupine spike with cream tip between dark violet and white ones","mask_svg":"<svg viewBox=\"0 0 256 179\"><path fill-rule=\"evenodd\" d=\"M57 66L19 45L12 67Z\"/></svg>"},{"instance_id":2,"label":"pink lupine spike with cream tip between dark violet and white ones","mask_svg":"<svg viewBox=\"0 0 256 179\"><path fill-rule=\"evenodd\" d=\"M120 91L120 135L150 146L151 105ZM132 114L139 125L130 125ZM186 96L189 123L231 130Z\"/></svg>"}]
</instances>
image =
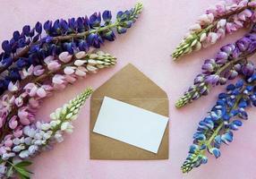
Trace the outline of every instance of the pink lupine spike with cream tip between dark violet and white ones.
<instances>
[{"instance_id":1,"label":"pink lupine spike with cream tip between dark violet and white ones","mask_svg":"<svg viewBox=\"0 0 256 179\"><path fill-rule=\"evenodd\" d=\"M30 72L21 72L24 78L30 78L25 85L20 85L18 81L9 85L9 90L13 94L4 95L0 100L0 129L15 130L20 125L33 123L35 111L43 98L48 97L54 90L63 90L67 84L85 77L88 73L95 73L99 69L115 65L115 57L101 51L92 54L79 52L75 55L62 53L56 60L53 56L48 56L46 61L47 69L44 73L34 75L33 68ZM73 58L73 61L71 59ZM58 63L64 64L60 65ZM4 133L0 135L0 140Z\"/></svg>"}]
</instances>

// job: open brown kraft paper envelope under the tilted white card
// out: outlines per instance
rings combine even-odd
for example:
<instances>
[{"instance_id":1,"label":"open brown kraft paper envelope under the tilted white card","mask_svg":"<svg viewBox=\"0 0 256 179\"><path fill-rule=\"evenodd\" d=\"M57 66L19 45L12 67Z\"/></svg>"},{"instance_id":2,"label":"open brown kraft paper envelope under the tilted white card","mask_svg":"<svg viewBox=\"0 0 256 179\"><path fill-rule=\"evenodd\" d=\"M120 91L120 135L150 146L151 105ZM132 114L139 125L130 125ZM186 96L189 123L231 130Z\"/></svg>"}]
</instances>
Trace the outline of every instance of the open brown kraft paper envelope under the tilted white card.
<instances>
[{"instance_id":1,"label":"open brown kraft paper envelope under the tilted white card","mask_svg":"<svg viewBox=\"0 0 256 179\"><path fill-rule=\"evenodd\" d=\"M107 96L125 103L141 107L159 115L168 116L168 98L166 92L149 80L132 64L126 65L120 72L95 90L90 99L90 159L107 160L153 160L168 158L168 127L158 153L134 147L122 141L92 132L103 98Z\"/></svg>"}]
</instances>

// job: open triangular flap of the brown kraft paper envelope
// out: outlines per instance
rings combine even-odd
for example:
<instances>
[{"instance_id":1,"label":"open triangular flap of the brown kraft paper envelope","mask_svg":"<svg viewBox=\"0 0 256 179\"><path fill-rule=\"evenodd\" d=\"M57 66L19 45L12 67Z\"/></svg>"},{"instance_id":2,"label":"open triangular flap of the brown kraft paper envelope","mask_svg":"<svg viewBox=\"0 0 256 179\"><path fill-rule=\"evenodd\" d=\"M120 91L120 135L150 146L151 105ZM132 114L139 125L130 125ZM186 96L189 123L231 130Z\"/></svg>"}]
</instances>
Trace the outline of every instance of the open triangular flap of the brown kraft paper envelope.
<instances>
[{"instance_id":1,"label":"open triangular flap of the brown kraft paper envelope","mask_svg":"<svg viewBox=\"0 0 256 179\"><path fill-rule=\"evenodd\" d=\"M167 98L166 92L132 64L95 90L91 98Z\"/></svg>"}]
</instances>

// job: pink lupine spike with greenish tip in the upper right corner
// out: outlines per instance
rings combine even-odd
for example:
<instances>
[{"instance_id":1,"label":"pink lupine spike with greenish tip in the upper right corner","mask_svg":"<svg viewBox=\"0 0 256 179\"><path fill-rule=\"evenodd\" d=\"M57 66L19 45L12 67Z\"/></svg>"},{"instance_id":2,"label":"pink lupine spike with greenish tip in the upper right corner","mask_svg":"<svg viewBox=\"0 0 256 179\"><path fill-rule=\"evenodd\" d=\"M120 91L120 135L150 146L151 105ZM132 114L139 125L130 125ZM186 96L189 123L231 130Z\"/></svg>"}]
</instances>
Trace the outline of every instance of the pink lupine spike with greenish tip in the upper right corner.
<instances>
[{"instance_id":1,"label":"pink lupine spike with greenish tip in the upper right corner","mask_svg":"<svg viewBox=\"0 0 256 179\"><path fill-rule=\"evenodd\" d=\"M250 27L256 21L255 0L221 1L201 15L190 33L173 53L174 60L201 47L209 47L243 27Z\"/></svg>"}]
</instances>

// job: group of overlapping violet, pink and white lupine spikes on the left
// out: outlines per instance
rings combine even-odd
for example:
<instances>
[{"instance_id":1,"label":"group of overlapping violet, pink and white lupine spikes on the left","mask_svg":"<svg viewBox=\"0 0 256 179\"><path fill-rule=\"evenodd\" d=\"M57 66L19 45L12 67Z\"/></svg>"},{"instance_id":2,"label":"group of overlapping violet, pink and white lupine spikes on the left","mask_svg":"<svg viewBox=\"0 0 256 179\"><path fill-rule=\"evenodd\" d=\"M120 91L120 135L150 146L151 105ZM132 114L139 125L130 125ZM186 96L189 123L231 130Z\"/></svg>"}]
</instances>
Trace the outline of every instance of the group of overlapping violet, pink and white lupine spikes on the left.
<instances>
[{"instance_id":1,"label":"group of overlapping violet, pink and white lupine spikes on the left","mask_svg":"<svg viewBox=\"0 0 256 179\"><path fill-rule=\"evenodd\" d=\"M46 123L36 119L44 98L86 75L115 65L116 59L97 48L114 41L138 19L142 4L131 10L104 11L68 21L37 22L14 31L4 40L0 55L0 178L30 178L30 158L63 141L72 122L90 97L89 88L50 115Z\"/></svg>"}]
</instances>

